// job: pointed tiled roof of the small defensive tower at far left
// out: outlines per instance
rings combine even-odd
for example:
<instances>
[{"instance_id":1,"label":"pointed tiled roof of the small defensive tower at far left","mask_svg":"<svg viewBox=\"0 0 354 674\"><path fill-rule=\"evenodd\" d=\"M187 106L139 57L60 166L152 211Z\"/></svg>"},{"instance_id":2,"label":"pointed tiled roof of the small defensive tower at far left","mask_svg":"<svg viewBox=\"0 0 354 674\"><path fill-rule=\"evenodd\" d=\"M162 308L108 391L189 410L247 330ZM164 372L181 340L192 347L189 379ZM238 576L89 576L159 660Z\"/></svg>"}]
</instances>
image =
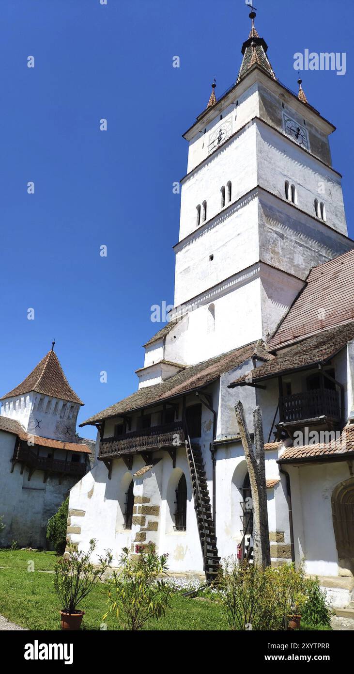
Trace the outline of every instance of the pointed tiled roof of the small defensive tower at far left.
<instances>
[{"instance_id":1,"label":"pointed tiled roof of the small defensive tower at far left","mask_svg":"<svg viewBox=\"0 0 354 674\"><path fill-rule=\"evenodd\" d=\"M29 393L30 391L41 393L44 396L51 396L52 398L60 398L60 400L78 402L80 405L83 405L83 402L75 394L71 386L69 386L57 354L53 350L48 351L21 384L9 391L0 400L22 396L22 394Z\"/></svg>"}]
</instances>

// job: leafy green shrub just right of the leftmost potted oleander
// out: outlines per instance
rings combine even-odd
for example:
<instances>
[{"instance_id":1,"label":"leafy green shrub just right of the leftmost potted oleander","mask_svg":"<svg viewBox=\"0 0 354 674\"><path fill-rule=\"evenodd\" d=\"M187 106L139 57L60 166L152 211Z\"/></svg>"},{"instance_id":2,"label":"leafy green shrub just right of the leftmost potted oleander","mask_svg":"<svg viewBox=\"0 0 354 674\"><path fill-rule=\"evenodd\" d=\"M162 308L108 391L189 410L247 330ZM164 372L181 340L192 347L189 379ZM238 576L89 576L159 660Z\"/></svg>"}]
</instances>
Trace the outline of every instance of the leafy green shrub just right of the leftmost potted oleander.
<instances>
[{"instance_id":1,"label":"leafy green shrub just right of the leftmost potted oleander","mask_svg":"<svg viewBox=\"0 0 354 674\"><path fill-rule=\"evenodd\" d=\"M139 546L138 558L129 558L129 549L123 548L122 568L114 572L108 590L108 613L112 612L124 630L141 630L149 619L159 619L170 607L172 586L164 576L168 573L168 555L159 557L155 545ZM159 578L159 576L163 576Z\"/></svg>"}]
</instances>

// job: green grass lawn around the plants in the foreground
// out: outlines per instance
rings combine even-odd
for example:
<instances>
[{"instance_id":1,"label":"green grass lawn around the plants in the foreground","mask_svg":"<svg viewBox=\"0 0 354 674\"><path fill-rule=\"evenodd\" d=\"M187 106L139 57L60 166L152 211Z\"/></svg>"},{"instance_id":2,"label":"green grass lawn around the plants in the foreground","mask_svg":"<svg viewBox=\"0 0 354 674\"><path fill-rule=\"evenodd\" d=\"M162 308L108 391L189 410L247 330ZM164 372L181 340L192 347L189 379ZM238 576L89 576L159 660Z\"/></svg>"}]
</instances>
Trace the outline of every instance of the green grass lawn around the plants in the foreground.
<instances>
[{"instance_id":1,"label":"green grass lawn around the plants in the foreground","mask_svg":"<svg viewBox=\"0 0 354 674\"><path fill-rule=\"evenodd\" d=\"M29 630L60 630L61 607L53 586L54 576L50 573L56 560L54 552L0 549L0 613ZM106 585L99 583L81 606L85 611L82 630L102 629L106 599ZM106 625L108 630L121 629L112 615L108 615ZM159 621L149 621L145 630L227 630L227 623L217 602L174 594L166 616ZM302 630L318 630L318 627L302 625Z\"/></svg>"}]
</instances>

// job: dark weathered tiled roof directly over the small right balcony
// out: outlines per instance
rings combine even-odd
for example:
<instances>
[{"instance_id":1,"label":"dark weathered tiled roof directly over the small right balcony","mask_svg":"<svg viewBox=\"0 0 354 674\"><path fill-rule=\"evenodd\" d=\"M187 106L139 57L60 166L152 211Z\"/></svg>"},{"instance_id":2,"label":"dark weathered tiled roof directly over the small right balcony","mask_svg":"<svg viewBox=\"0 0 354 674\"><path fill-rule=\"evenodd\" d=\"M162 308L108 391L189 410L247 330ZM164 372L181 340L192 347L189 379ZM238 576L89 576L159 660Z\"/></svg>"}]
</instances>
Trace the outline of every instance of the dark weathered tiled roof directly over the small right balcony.
<instances>
[{"instance_id":1,"label":"dark weathered tiled roof directly over the small right balcony","mask_svg":"<svg viewBox=\"0 0 354 674\"><path fill-rule=\"evenodd\" d=\"M296 344L283 348L273 360L256 367L248 375L232 381L229 388L242 384L246 376L248 380L252 378L252 382L255 382L313 367L317 363L326 363L352 339L354 339L354 321L344 326L322 330L322 332L312 335L302 342L296 342Z\"/></svg>"}]
</instances>

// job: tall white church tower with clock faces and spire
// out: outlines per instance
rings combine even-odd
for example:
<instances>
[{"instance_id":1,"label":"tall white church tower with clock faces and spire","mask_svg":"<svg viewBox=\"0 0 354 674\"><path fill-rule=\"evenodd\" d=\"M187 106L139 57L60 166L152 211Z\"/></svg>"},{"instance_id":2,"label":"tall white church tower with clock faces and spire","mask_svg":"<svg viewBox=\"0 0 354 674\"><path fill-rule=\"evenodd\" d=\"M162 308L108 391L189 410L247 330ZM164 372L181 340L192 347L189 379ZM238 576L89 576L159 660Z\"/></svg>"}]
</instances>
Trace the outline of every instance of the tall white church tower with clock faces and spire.
<instances>
[{"instance_id":1,"label":"tall white church tower with clock faces and spire","mask_svg":"<svg viewBox=\"0 0 354 674\"><path fill-rule=\"evenodd\" d=\"M140 386L266 340L310 269L353 247L328 142L335 127L301 80L298 94L277 80L255 18L236 84L218 99L213 84L184 133L174 309L145 345Z\"/></svg>"}]
</instances>

